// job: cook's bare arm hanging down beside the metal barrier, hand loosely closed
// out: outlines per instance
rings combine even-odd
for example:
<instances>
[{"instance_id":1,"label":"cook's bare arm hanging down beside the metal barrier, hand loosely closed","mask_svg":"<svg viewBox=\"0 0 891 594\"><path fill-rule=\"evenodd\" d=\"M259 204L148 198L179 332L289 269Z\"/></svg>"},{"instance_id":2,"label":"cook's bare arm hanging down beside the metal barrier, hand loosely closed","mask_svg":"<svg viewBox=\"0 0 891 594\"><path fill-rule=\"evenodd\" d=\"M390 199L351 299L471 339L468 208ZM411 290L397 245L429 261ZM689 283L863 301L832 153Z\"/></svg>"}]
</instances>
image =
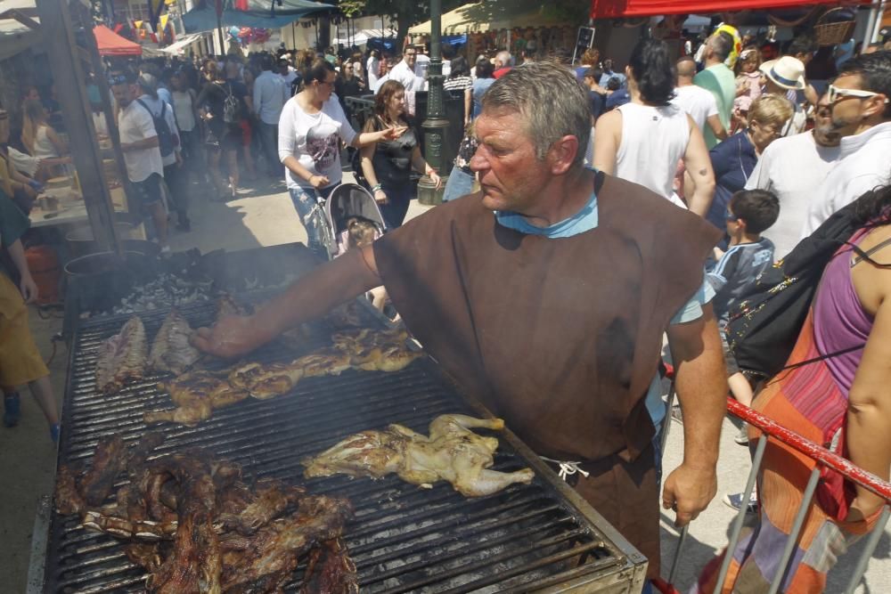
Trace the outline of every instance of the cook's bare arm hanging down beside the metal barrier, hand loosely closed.
<instances>
[{"instance_id":1,"label":"cook's bare arm hanging down beside the metal barrier, hand loosely closed","mask_svg":"<svg viewBox=\"0 0 891 594\"><path fill-rule=\"evenodd\" d=\"M678 400L683 411L683 462L666 478L662 506L686 525L706 509L717 491L715 465L727 411L727 374L712 305L702 317L668 327Z\"/></svg>"}]
</instances>

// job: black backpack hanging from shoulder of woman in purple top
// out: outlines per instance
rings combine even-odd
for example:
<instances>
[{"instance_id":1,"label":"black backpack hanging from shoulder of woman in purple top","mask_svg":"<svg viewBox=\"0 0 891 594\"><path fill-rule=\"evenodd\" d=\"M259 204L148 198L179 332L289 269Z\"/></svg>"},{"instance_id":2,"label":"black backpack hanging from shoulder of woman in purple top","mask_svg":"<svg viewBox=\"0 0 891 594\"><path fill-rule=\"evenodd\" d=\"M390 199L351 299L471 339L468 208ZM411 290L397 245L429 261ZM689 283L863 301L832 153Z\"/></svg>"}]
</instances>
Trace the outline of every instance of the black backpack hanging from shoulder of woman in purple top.
<instances>
[{"instance_id":1,"label":"black backpack hanging from shoulder of woman in purple top","mask_svg":"<svg viewBox=\"0 0 891 594\"><path fill-rule=\"evenodd\" d=\"M871 197L872 192L867 192L830 216L785 258L759 274L749 293L731 307L725 331L740 370L772 378L781 370L862 348L847 348L784 367L810 311L823 269L838 248L850 245L858 255L870 259L847 240L863 226L856 217L857 205Z\"/></svg>"}]
</instances>

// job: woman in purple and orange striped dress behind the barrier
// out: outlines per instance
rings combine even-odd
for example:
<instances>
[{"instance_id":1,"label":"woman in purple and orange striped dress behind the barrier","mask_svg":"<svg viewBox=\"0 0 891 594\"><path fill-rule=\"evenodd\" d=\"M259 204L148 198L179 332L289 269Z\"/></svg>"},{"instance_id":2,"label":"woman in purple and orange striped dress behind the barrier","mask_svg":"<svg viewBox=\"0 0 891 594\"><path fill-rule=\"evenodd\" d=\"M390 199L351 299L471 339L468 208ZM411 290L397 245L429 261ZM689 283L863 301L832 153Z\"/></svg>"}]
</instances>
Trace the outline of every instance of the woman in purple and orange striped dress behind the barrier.
<instances>
[{"instance_id":1,"label":"woman in purple and orange striped dress behind the barrier","mask_svg":"<svg viewBox=\"0 0 891 594\"><path fill-rule=\"evenodd\" d=\"M782 371L753 407L814 443L888 480L891 468L891 186L858 201L861 228L823 271L811 311ZM855 248L852 246L856 246ZM796 363L806 362L798 367ZM791 369L789 369L791 368ZM761 432L749 429L755 443ZM761 511L733 551L722 592L767 591L816 463L770 440L758 480ZM823 470L780 591L822 592L826 574L868 533L885 503ZM725 553L726 554L726 551ZM693 591L712 592L722 557Z\"/></svg>"}]
</instances>

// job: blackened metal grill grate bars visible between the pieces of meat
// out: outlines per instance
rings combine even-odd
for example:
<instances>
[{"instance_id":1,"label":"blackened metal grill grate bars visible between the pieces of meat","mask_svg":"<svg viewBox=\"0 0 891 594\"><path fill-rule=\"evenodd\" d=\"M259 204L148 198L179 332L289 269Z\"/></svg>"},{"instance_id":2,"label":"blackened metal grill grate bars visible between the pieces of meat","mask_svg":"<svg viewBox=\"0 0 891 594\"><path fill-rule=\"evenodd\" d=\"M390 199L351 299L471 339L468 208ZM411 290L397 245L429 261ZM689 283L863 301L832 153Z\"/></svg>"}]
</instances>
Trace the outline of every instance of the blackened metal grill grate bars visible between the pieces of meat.
<instances>
[{"instance_id":1,"label":"blackened metal grill grate bars visible between the pieces of meat","mask_svg":"<svg viewBox=\"0 0 891 594\"><path fill-rule=\"evenodd\" d=\"M213 309L200 303L181 313L197 327L212 321ZM166 314L142 314L150 338ZM368 316L370 325L380 324L372 313ZM168 395L156 387L162 376L129 384L116 395L96 392L98 346L126 320L83 321L74 337L60 463L88 460L102 435L121 432L127 443L135 441L146 430L143 411L170 406ZM315 339L307 348L328 344L330 333L322 324L313 327ZM274 343L254 356L271 361L294 355ZM159 426L168 438L155 455L201 446L241 463L247 480L274 476L306 484L310 492L349 497L356 517L347 525L346 541L363 592L562 591L582 583L587 584L584 591L597 591L594 583L616 587L640 580L644 559L590 509L577 509L563 487L541 472L532 484L471 500L446 483L423 490L395 476L380 481L302 476L303 456L346 435L393 422L426 434L429 421L447 412L479 414L477 405L462 398L435 363L425 359L397 373L347 371L339 377L304 379L289 395L263 402L249 399L215 411L198 427ZM518 452L524 446L499 434L495 469L529 466L530 460ZM537 461L533 465L542 468ZM142 591L144 579L143 569L130 563L119 541L86 531L75 517L53 513L45 591ZM291 584L289 591L295 587Z\"/></svg>"}]
</instances>

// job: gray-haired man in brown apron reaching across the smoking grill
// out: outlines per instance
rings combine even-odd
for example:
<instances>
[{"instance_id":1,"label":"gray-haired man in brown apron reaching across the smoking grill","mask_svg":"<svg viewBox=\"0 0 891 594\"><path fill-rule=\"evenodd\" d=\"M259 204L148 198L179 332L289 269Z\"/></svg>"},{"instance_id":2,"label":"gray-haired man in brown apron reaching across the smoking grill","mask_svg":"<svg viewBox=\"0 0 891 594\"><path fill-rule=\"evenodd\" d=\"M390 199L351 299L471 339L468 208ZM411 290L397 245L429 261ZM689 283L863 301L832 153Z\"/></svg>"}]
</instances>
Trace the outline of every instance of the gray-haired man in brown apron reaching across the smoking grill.
<instances>
[{"instance_id":1,"label":"gray-haired man in brown apron reaching across the smoking grill","mask_svg":"<svg viewBox=\"0 0 891 594\"><path fill-rule=\"evenodd\" d=\"M715 495L726 380L710 305L670 323L717 233L642 186L583 166L587 98L536 62L495 82L470 162L481 192L430 210L295 283L250 318L201 329L233 357L383 284L442 367L540 455L577 461L576 489L658 575L654 433L644 395L667 331L683 464L662 504L683 525Z\"/></svg>"}]
</instances>

